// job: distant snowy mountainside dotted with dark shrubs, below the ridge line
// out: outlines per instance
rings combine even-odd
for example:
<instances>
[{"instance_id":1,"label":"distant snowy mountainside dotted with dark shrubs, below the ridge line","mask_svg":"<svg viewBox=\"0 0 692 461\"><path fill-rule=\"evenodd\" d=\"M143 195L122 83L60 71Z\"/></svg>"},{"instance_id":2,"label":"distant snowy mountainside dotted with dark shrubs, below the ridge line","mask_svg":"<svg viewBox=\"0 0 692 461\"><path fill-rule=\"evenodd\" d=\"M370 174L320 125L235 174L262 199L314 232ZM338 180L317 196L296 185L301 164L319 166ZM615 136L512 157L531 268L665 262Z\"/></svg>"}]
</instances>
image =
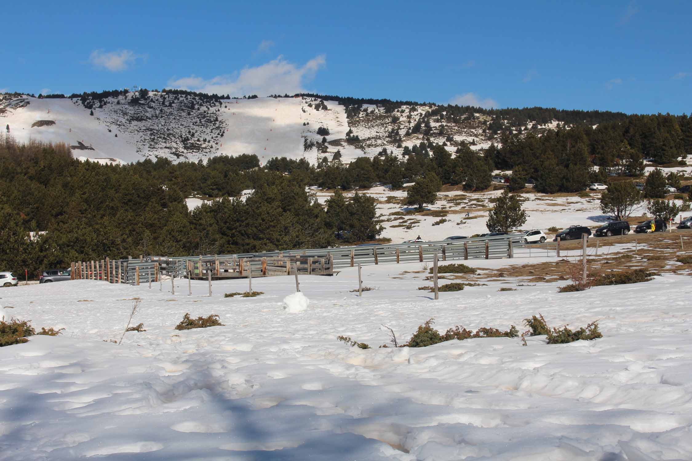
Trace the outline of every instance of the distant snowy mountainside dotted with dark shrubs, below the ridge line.
<instances>
[{"instance_id":1,"label":"distant snowy mountainside dotted with dark shrubs, below the ridge line","mask_svg":"<svg viewBox=\"0 0 692 461\"><path fill-rule=\"evenodd\" d=\"M130 92L80 102L79 98L0 95L0 126L9 125L9 134L19 142L66 142L73 146L75 157L102 162L157 157L197 161L219 154L254 153L262 163L283 156L316 163L323 156L331 159L336 151L343 162L349 162L358 156L375 156L383 148L401 154L404 146L418 144L424 139L420 133L405 132L434 109L432 105L403 106L391 114L381 106L365 105L361 115L347 119L344 106L325 101L327 109L318 110L319 101L311 97L215 101L152 91L147 100L134 102L137 96ZM400 120L392 120L393 115ZM488 147L498 140L484 130L482 122L487 118L476 114L473 120L450 124L430 117L430 140L447 141L450 151L462 141L473 149ZM320 126L329 129L324 153L322 136L316 134ZM347 142L349 129L359 142ZM392 129L399 134L392 136ZM401 147L397 147L399 137Z\"/></svg>"}]
</instances>

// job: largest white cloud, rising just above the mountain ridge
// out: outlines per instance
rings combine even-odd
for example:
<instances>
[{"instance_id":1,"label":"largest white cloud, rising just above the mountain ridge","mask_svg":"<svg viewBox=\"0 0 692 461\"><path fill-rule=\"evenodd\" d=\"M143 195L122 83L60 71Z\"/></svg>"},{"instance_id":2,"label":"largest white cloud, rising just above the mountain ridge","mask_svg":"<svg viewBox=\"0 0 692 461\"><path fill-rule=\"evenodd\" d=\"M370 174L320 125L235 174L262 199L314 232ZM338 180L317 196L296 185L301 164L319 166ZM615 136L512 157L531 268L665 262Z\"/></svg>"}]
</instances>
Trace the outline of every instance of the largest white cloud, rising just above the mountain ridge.
<instances>
[{"instance_id":1,"label":"largest white cloud, rising just above the mountain ridge","mask_svg":"<svg viewBox=\"0 0 692 461\"><path fill-rule=\"evenodd\" d=\"M172 78L168 81L168 86L231 96L293 94L304 91L303 84L313 79L317 71L325 64L327 64L325 55L316 56L300 67L279 56L262 66L246 67L230 75L218 75L210 79L195 75L180 79Z\"/></svg>"}]
</instances>

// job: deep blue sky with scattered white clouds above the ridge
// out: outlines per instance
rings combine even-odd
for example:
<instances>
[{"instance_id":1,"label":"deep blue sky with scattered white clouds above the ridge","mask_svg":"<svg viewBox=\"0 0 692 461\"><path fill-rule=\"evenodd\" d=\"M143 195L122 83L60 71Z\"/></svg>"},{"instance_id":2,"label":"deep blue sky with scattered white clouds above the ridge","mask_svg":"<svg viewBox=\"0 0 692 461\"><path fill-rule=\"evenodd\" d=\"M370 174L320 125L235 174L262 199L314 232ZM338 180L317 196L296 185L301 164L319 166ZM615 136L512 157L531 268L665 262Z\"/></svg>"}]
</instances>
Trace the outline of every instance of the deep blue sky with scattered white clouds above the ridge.
<instances>
[{"instance_id":1,"label":"deep blue sky with scattered white clouds above the ridge","mask_svg":"<svg viewBox=\"0 0 692 461\"><path fill-rule=\"evenodd\" d=\"M692 111L689 1L7 3L0 91Z\"/></svg>"}]
</instances>

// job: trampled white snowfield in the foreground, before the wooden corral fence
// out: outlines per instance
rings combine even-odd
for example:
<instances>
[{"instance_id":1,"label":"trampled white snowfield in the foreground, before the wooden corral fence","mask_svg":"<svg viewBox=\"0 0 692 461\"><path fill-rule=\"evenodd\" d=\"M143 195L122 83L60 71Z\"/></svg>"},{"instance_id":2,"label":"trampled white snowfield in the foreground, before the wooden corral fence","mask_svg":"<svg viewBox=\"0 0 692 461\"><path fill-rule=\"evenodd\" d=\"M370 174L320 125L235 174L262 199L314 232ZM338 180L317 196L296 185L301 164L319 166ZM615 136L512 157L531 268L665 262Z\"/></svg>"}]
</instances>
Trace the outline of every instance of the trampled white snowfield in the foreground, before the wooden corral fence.
<instances>
[{"instance_id":1,"label":"trampled white snowfield in the foreground, before the wooden corral fence","mask_svg":"<svg viewBox=\"0 0 692 461\"><path fill-rule=\"evenodd\" d=\"M349 292L357 270L301 276L310 303L298 313L283 308L292 277L253 279L264 294L249 299L224 298L246 280L214 282L212 297L194 281L192 296L187 281L175 295L170 281L1 290L6 316L65 330L0 348L0 460L692 459L689 276L564 294L484 281L434 301L417 290L424 274L403 273L420 269L364 267L376 289L362 298ZM104 342L120 339L135 297L132 323L147 331ZM185 312L225 326L174 330ZM522 331L538 312L553 326L600 319L603 339L377 348L383 325L406 341L431 317L441 332Z\"/></svg>"}]
</instances>

